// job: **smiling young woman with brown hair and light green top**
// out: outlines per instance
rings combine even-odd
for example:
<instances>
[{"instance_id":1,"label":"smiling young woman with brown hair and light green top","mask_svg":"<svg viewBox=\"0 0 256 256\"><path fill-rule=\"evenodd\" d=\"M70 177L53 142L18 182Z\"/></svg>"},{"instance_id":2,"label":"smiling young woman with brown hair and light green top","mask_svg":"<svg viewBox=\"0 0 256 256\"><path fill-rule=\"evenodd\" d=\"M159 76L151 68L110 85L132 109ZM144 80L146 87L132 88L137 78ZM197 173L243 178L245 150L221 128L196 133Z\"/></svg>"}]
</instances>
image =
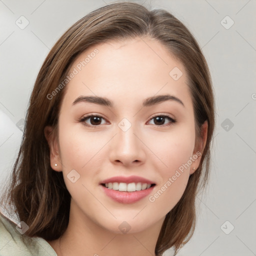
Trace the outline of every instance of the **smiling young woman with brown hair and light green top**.
<instances>
[{"instance_id":1,"label":"smiling young woman with brown hair and light green top","mask_svg":"<svg viewBox=\"0 0 256 256\"><path fill-rule=\"evenodd\" d=\"M20 223L1 216L0 253L176 254L194 231L213 129L207 63L179 20L131 2L90 12L36 78L2 196Z\"/></svg>"}]
</instances>

